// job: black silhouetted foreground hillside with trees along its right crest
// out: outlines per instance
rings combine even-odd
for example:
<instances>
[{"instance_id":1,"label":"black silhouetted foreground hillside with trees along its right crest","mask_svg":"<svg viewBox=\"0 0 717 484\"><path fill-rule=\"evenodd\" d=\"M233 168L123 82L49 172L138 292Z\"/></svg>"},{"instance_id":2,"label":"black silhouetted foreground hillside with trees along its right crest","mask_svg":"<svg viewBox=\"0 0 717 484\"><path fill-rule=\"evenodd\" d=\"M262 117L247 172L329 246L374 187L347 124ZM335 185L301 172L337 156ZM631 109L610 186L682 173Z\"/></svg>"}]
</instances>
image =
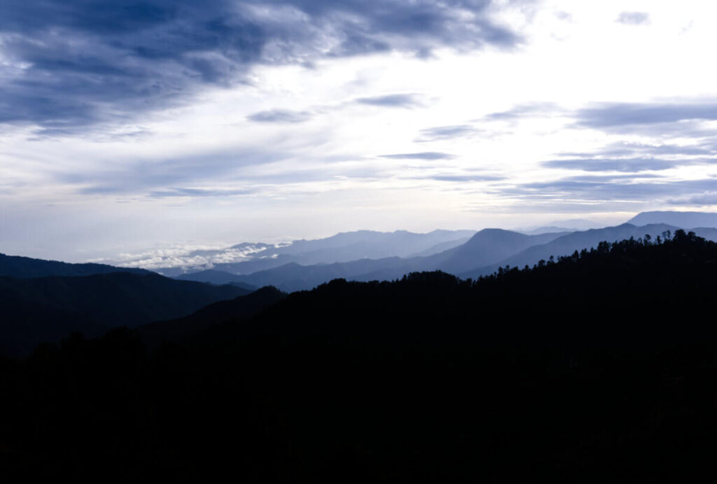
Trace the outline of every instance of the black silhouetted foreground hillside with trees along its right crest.
<instances>
[{"instance_id":1,"label":"black silhouetted foreground hillside with trees along its right crest","mask_svg":"<svg viewBox=\"0 0 717 484\"><path fill-rule=\"evenodd\" d=\"M151 353L75 336L0 362L0 475L712 481L716 288L717 244L678 232L477 283L336 280Z\"/></svg>"}]
</instances>

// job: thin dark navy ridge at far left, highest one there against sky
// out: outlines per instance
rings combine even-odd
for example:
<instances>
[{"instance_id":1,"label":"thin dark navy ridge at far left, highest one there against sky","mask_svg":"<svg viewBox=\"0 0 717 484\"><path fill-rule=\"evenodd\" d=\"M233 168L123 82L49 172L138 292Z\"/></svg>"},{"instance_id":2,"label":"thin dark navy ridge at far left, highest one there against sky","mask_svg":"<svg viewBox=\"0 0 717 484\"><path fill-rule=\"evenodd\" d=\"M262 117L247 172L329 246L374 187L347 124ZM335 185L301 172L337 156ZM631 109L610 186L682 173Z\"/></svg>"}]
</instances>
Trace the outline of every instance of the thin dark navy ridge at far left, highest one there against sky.
<instances>
[{"instance_id":1,"label":"thin dark navy ridge at far left, highest one there against sky","mask_svg":"<svg viewBox=\"0 0 717 484\"><path fill-rule=\"evenodd\" d=\"M132 272L150 274L144 269L114 267L105 264L70 264L56 260L32 259L16 255L0 254L0 276L7 277L44 277L48 275L81 276L109 274L110 272Z\"/></svg>"}]
</instances>

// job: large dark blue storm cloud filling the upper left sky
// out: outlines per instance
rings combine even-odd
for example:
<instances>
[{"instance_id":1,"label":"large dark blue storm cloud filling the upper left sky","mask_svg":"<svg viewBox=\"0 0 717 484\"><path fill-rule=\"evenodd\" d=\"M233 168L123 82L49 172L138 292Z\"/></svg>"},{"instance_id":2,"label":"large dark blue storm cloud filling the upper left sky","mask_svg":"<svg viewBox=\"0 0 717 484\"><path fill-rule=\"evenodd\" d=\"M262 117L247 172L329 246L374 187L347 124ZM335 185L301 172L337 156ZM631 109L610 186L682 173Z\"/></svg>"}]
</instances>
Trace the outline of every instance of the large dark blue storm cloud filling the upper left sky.
<instances>
[{"instance_id":1,"label":"large dark blue storm cloud filling the upper left sky","mask_svg":"<svg viewBox=\"0 0 717 484\"><path fill-rule=\"evenodd\" d=\"M489 0L4 0L0 123L62 133L241 82L256 64L519 42L489 8Z\"/></svg>"}]
</instances>

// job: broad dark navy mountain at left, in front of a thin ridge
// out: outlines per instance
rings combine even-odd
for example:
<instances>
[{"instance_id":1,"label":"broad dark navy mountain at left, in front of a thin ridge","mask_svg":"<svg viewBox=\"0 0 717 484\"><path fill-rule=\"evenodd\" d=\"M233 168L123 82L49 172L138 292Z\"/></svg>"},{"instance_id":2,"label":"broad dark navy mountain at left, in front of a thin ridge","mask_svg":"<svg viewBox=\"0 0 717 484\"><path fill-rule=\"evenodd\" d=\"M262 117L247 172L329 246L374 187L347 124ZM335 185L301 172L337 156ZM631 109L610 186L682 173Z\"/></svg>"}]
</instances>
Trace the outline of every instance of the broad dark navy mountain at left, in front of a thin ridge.
<instances>
[{"instance_id":1,"label":"broad dark navy mountain at left, in front of a thin ridge","mask_svg":"<svg viewBox=\"0 0 717 484\"><path fill-rule=\"evenodd\" d=\"M57 341L71 331L92 336L115 326L179 318L249 292L152 273L0 277L0 353L23 354L37 343Z\"/></svg>"}]
</instances>

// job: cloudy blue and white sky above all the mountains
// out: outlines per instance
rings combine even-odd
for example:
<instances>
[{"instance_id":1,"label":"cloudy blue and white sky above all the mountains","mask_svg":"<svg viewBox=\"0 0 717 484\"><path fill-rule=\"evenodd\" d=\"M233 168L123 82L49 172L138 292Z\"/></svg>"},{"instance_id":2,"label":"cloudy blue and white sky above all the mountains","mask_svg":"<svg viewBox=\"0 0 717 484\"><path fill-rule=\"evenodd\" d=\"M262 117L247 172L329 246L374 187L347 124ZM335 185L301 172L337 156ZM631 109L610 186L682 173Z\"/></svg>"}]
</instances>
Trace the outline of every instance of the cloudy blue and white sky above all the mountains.
<instances>
[{"instance_id":1,"label":"cloudy blue and white sky above all the mountains","mask_svg":"<svg viewBox=\"0 0 717 484\"><path fill-rule=\"evenodd\" d=\"M717 4L4 0L0 252L717 204Z\"/></svg>"}]
</instances>

